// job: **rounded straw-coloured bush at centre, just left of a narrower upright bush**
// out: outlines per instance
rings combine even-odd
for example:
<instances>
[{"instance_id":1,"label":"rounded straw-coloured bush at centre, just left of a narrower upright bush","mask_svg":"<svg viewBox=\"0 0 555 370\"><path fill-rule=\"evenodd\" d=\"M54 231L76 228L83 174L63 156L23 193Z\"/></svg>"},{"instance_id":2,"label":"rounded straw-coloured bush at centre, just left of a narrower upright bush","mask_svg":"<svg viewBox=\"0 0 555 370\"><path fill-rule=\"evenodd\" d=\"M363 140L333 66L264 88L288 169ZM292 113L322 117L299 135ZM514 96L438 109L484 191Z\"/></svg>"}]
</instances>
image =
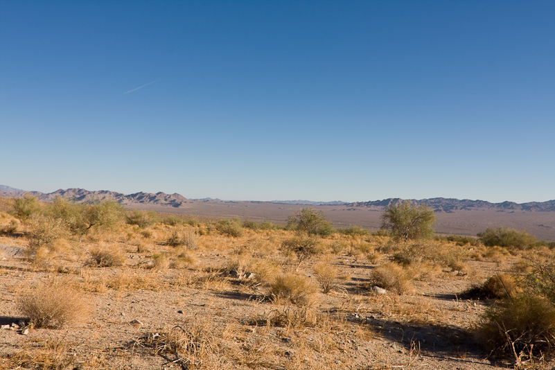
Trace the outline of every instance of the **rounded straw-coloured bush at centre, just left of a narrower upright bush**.
<instances>
[{"instance_id":1,"label":"rounded straw-coloured bush at centre, just left of a narrower upright bush","mask_svg":"<svg viewBox=\"0 0 555 370\"><path fill-rule=\"evenodd\" d=\"M274 301L285 299L299 306L310 305L316 292L316 285L300 274L280 274L270 284L270 295Z\"/></svg>"}]
</instances>

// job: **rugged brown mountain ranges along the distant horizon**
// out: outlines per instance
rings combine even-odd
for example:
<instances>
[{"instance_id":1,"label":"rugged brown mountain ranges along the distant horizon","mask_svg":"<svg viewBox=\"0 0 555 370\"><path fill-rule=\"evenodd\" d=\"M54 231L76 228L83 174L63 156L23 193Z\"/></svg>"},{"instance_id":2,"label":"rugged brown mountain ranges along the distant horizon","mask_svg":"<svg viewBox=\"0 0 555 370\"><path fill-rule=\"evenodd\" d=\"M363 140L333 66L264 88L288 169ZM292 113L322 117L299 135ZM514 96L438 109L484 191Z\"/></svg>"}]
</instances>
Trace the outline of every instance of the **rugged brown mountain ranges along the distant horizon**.
<instances>
[{"instance_id":1,"label":"rugged brown mountain ranges along the distant horizon","mask_svg":"<svg viewBox=\"0 0 555 370\"><path fill-rule=\"evenodd\" d=\"M188 200L186 197L177 193L134 193L125 195L113 191L87 191L80 188L70 188L66 190L58 190L53 193L41 193L39 191L22 191L10 186L0 185L0 197L19 197L24 193L35 195L42 202L53 202L56 197L64 197L77 203L92 202L95 200L114 200L123 206L134 205L152 205L152 206L170 206L180 208L188 202L225 202L218 199L204 198L202 200ZM495 210L495 211L555 211L555 200L547 202L502 202L491 203L484 200L458 200L454 198L430 198L423 200L412 200L417 204L428 204L436 212L452 213L460 210ZM268 203L275 204L294 204L308 206L346 206L346 207L364 207L370 209L384 209L391 204L399 204L403 202L400 198L389 198L385 200L376 200L369 202L312 202L309 200L274 200ZM248 202L247 202L248 203ZM263 203L263 202L254 202Z\"/></svg>"}]
</instances>

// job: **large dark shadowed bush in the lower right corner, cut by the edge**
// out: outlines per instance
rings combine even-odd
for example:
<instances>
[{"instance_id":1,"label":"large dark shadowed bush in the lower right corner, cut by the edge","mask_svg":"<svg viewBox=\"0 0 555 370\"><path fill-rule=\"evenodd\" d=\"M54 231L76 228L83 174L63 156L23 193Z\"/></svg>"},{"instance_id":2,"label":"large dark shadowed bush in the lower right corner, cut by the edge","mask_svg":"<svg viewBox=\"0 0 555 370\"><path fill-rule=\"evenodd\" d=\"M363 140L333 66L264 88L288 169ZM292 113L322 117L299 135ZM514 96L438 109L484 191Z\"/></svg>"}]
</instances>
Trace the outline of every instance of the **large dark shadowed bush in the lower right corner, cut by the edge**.
<instances>
[{"instance_id":1,"label":"large dark shadowed bush in the lower right corner, cut by the edge","mask_svg":"<svg viewBox=\"0 0 555 370\"><path fill-rule=\"evenodd\" d=\"M513 358L555 354L555 307L533 294L505 299L489 308L479 327L479 340L499 355Z\"/></svg>"}]
</instances>

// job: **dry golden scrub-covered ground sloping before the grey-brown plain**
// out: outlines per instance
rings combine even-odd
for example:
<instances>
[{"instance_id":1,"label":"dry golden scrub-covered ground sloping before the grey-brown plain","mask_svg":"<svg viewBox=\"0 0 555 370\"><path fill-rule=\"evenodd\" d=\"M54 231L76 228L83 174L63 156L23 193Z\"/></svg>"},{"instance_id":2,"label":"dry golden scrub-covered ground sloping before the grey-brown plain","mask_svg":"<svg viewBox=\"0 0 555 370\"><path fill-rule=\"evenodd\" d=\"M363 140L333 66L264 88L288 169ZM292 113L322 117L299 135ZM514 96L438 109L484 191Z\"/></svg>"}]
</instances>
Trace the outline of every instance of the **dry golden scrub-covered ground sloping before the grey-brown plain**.
<instances>
[{"instance_id":1,"label":"dry golden scrub-covered ground sloping before the grey-brown plain","mask_svg":"<svg viewBox=\"0 0 555 370\"><path fill-rule=\"evenodd\" d=\"M483 362L489 352L468 339L471 325L500 357L528 364L552 355L555 262L538 243L518 249L458 236L405 241L393 231L356 226L327 234L294 224L285 229L142 211L127 218L116 211L115 222L87 221L103 207L58 199L21 218L0 213L0 225L17 224L16 234L0 236L0 244L27 252L0 255L6 258L0 269L4 305L13 310L8 315L21 315L33 322L31 331L37 329L18 336L24 344L18 342L16 351L0 355L0 369L125 368L131 353L149 368L174 362L188 369L372 369L395 358L405 360L389 362L391 367L407 367L414 356L430 368L446 368L428 355L433 346L419 335L456 344L456 358ZM37 283L45 279L57 283ZM440 284L441 290L434 288ZM461 286L479 292L461 294ZM88 310L69 308L67 297L94 307L87 329L74 324L87 322ZM46 319L37 314L45 306L55 312ZM78 351L70 342L54 348L46 344L53 331L39 327L67 327L69 338L95 339L87 337ZM376 358L380 352L371 338L377 333L387 333L380 344L395 346L380 347L389 357ZM114 336L122 338L116 349ZM403 348L406 353L398 352ZM450 349L441 351L450 361ZM489 365L483 366L477 369Z\"/></svg>"}]
</instances>

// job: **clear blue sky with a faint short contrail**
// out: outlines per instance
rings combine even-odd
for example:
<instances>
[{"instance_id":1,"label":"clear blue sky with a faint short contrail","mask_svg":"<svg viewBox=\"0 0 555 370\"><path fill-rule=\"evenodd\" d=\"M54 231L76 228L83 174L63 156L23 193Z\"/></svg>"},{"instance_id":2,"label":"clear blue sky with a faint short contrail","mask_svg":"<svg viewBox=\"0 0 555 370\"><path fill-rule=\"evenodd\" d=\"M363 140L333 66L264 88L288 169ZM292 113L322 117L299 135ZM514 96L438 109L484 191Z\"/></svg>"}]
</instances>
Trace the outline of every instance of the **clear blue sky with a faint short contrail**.
<instances>
[{"instance_id":1,"label":"clear blue sky with a faint short contrail","mask_svg":"<svg viewBox=\"0 0 555 370\"><path fill-rule=\"evenodd\" d=\"M0 184L555 199L555 1L0 0Z\"/></svg>"}]
</instances>

